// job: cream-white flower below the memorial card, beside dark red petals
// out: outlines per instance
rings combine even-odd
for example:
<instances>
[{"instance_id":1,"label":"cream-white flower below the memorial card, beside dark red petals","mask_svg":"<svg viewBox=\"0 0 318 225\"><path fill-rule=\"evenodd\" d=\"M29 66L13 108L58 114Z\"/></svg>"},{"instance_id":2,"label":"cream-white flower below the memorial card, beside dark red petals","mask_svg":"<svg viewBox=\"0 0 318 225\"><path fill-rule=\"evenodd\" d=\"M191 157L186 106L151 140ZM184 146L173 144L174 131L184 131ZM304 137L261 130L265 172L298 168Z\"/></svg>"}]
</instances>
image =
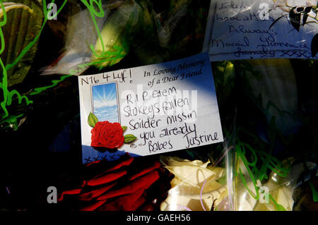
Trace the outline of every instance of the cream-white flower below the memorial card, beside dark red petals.
<instances>
[{"instance_id":1,"label":"cream-white flower below the memorial card, beside dark red petals","mask_svg":"<svg viewBox=\"0 0 318 225\"><path fill-rule=\"evenodd\" d=\"M171 181L172 188L160 205L162 211L210 211L214 201L218 205L223 200L226 187L217 181L223 174L222 168L208 169L209 161L191 162L177 157L160 159L165 168L175 175Z\"/></svg>"}]
</instances>

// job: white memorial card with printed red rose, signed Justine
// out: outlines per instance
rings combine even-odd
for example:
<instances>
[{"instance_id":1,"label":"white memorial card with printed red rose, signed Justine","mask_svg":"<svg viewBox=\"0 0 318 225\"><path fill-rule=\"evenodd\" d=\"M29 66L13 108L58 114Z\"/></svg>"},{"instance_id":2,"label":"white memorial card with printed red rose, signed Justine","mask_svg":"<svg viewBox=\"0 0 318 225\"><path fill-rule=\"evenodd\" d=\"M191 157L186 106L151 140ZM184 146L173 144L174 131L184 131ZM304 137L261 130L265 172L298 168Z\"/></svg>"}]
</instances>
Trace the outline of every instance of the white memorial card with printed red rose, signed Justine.
<instances>
[{"instance_id":1,"label":"white memorial card with printed red rose, signed Justine","mask_svg":"<svg viewBox=\"0 0 318 225\"><path fill-rule=\"evenodd\" d=\"M223 142L208 54L78 77L83 163Z\"/></svg>"}]
</instances>

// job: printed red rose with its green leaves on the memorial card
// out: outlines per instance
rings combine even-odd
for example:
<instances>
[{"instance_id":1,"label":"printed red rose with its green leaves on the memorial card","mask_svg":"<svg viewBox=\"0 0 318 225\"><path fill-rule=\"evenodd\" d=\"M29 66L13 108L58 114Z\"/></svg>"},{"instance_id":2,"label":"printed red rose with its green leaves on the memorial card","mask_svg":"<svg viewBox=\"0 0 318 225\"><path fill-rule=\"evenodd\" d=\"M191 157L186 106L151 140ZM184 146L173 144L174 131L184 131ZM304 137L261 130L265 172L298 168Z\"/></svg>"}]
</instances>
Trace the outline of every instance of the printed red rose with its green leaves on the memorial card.
<instances>
[{"instance_id":1,"label":"printed red rose with its green leaves on the memorial card","mask_svg":"<svg viewBox=\"0 0 318 225\"><path fill-rule=\"evenodd\" d=\"M98 118L90 113L88 115L88 125L93 129L91 146L108 149L115 149L124 144L134 142L137 138L134 135L124 135L126 126L121 126L120 123L110 123L109 121L98 121Z\"/></svg>"}]
</instances>

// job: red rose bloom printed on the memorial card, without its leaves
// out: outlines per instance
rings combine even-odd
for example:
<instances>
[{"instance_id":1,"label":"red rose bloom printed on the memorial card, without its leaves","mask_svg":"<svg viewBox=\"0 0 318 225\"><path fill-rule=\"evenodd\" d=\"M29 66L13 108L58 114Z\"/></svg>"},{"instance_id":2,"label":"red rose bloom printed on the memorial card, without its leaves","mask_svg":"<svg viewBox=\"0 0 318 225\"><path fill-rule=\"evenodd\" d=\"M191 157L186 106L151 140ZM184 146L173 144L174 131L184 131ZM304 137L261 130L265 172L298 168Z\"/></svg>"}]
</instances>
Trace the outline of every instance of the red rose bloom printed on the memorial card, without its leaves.
<instances>
[{"instance_id":1,"label":"red rose bloom printed on the memorial card, without its leaves","mask_svg":"<svg viewBox=\"0 0 318 225\"><path fill-rule=\"evenodd\" d=\"M110 123L108 121L97 122L90 131L92 133L93 147L116 148L124 144L124 131L120 123Z\"/></svg>"}]
</instances>

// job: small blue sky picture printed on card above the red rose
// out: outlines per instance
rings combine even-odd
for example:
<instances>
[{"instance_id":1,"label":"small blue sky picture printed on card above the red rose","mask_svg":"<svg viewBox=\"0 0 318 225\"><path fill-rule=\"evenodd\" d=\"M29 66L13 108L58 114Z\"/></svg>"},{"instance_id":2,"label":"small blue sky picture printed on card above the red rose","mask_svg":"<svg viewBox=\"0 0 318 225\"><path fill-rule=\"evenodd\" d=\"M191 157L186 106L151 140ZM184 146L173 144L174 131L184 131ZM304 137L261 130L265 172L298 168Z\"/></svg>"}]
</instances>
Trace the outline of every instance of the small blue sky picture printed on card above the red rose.
<instances>
[{"instance_id":1,"label":"small blue sky picture printed on card above the red rose","mask_svg":"<svg viewBox=\"0 0 318 225\"><path fill-rule=\"evenodd\" d=\"M98 121L119 122L116 83L92 86L93 107Z\"/></svg>"}]
</instances>

